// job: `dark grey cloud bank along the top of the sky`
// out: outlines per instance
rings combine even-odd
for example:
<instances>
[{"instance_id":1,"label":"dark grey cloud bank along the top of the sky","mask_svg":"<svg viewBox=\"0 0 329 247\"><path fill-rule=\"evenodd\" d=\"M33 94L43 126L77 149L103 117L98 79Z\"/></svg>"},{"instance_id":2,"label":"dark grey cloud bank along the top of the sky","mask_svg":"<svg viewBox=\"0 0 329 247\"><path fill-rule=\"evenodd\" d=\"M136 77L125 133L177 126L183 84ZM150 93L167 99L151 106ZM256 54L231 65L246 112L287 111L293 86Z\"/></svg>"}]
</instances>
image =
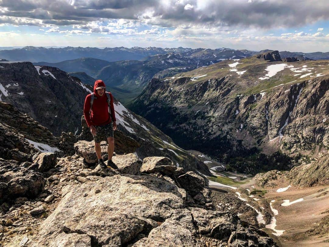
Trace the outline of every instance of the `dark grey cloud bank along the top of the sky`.
<instances>
[{"instance_id":1,"label":"dark grey cloud bank along the top of the sky","mask_svg":"<svg viewBox=\"0 0 329 247\"><path fill-rule=\"evenodd\" d=\"M193 8L184 9L186 4ZM0 7L0 16L41 19L56 25L83 24L102 18L139 18L167 27L205 24L276 28L329 19L328 0L0 0Z\"/></svg>"}]
</instances>

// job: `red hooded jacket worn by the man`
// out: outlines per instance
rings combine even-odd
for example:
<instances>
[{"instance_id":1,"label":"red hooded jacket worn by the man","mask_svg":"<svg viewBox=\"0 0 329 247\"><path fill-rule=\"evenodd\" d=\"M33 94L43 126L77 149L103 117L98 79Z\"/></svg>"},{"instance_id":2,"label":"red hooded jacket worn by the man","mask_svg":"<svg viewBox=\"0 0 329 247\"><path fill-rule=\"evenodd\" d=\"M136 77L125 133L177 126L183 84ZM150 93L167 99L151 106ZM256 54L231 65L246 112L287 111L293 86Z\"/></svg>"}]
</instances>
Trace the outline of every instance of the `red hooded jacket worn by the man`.
<instances>
[{"instance_id":1,"label":"red hooded jacket worn by the man","mask_svg":"<svg viewBox=\"0 0 329 247\"><path fill-rule=\"evenodd\" d=\"M95 85L94 85L95 98L92 103L92 109L90 114L89 114L89 110L90 110L91 94L87 95L85 99L83 114L85 115L85 119L88 127L90 127L90 125L94 125L94 126L106 125L111 123L111 121L113 122L116 121L112 94L109 93L111 97L111 103L110 103L111 116L110 116L107 96L105 93L103 94L103 96L99 96L96 90L97 87L105 87L105 83L102 80L95 81Z\"/></svg>"}]
</instances>

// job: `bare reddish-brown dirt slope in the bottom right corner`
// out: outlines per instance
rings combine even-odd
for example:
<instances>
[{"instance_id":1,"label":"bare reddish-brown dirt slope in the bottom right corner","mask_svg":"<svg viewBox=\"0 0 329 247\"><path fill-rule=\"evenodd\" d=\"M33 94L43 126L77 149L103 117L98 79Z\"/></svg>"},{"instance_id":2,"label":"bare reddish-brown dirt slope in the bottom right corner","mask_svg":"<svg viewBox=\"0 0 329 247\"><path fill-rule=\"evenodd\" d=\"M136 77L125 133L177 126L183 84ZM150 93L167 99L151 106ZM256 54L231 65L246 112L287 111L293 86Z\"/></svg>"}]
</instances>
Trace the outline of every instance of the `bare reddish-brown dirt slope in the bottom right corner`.
<instances>
[{"instance_id":1,"label":"bare reddish-brown dirt slope in the bottom right corner","mask_svg":"<svg viewBox=\"0 0 329 247\"><path fill-rule=\"evenodd\" d=\"M329 187L316 186L310 188L290 187L284 192L276 192L276 189L268 190L265 197L275 200L272 203L279 214L275 216L276 229L285 232L276 237L270 229L263 229L283 247L328 247L329 236L309 235L306 232L315 227L321 219L328 214L329 209ZM289 206L281 206L283 200L295 200L303 198ZM324 213L326 212L326 213Z\"/></svg>"}]
</instances>

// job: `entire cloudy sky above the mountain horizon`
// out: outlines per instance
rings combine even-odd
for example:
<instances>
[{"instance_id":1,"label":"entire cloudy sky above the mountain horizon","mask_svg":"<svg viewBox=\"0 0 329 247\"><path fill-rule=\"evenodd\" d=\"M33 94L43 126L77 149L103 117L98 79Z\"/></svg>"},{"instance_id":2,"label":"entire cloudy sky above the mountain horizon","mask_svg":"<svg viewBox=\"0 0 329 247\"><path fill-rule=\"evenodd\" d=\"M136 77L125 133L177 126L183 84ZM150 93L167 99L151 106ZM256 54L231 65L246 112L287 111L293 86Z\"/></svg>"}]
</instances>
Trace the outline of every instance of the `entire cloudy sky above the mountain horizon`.
<instances>
[{"instance_id":1,"label":"entire cloudy sky above the mountain horizon","mask_svg":"<svg viewBox=\"0 0 329 247\"><path fill-rule=\"evenodd\" d=\"M329 51L328 0L0 0L0 46Z\"/></svg>"}]
</instances>

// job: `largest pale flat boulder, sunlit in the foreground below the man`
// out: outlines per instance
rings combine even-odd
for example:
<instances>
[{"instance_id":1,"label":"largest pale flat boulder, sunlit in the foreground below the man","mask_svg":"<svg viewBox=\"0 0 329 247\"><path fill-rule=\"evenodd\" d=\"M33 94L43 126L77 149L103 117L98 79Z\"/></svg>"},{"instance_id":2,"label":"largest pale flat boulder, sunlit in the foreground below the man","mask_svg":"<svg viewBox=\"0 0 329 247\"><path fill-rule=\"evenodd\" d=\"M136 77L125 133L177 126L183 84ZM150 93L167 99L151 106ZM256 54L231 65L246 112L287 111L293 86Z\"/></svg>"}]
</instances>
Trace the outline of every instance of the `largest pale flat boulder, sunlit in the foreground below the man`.
<instances>
[{"instance_id":1,"label":"largest pale flat boulder, sunlit in the foreground below the man","mask_svg":"<svg viewBox=\"0 0 329 247\"><path fill-rule=\"evenodd\" d=\"M63 232L87 234L103 246L122 246L184 204L175 184L153 176L114 175L64 187L63 195L32 246L56 242Z\"/></svg>"}]
</instances>

